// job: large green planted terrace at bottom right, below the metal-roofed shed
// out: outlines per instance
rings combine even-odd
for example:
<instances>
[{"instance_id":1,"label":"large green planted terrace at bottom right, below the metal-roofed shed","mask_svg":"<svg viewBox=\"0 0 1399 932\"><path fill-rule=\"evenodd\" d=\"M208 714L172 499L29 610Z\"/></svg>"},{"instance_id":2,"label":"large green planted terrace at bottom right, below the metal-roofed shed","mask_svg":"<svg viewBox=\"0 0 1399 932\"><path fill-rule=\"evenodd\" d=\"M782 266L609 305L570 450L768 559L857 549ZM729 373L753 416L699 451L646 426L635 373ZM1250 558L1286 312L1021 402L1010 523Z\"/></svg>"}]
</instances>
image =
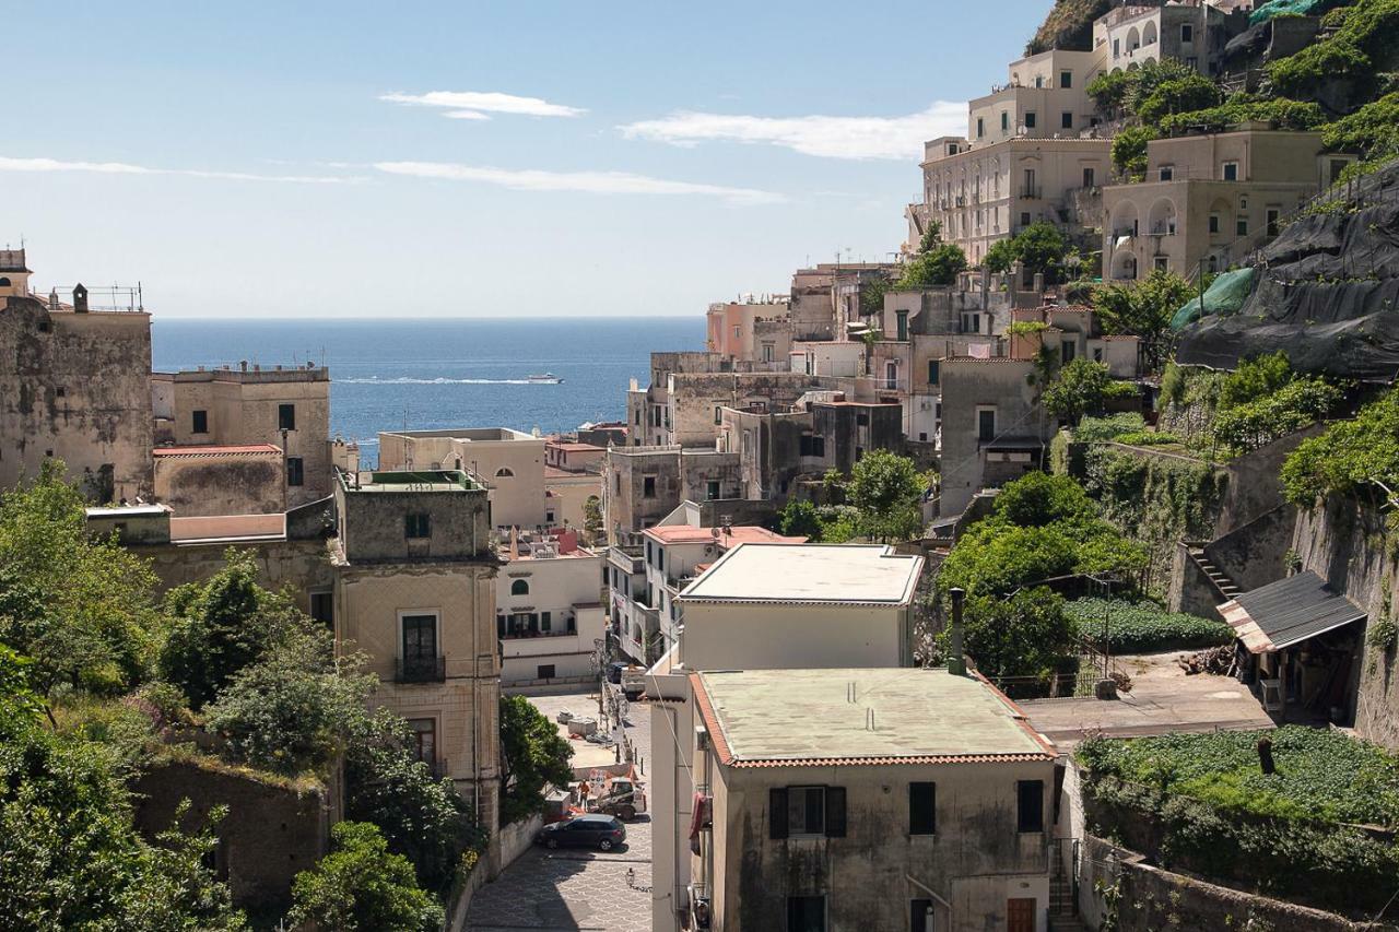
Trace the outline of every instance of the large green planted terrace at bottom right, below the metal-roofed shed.
<instances>
[{"instance_id":1,"label":"large green planted terrace at bottom right, below the metal-roofed shed","mask_svg":"<svg viewBox=\"0 0 1399 932\"><path fill-rule=\"evenodd\" d=\"M1258 740L1273 743L1263 774ZM1399 824L1399 756L1340 732L1287 725L1273 732L1090 739L1076 751L1097 777L1189 796L1231 814Z\"/></svg>"}]
</instances>

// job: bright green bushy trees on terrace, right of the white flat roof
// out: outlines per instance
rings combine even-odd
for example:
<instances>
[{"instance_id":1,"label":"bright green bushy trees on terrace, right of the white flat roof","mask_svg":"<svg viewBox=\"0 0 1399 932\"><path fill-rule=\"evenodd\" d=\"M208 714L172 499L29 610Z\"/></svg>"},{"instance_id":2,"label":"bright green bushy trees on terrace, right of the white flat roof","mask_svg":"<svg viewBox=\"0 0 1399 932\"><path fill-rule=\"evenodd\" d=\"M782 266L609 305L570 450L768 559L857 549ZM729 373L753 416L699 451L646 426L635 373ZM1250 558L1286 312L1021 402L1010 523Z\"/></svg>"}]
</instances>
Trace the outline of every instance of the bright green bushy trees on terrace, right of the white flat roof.
<instances>
[{"instance_id":1,"label":"bright green bushy trees on terrace, right of the white flat roof","mask_svg":"<svg viewBox=\"0 0 1399 932\"><path fill-rule=\"evenodd\" d=\"M1009 483L992 514L957 542L937 585L1006 593L1070 574L1135 575L1146 564L1146 551L1100 516L1077 481L1030 473Z\"/></svg>"}]
</instances>

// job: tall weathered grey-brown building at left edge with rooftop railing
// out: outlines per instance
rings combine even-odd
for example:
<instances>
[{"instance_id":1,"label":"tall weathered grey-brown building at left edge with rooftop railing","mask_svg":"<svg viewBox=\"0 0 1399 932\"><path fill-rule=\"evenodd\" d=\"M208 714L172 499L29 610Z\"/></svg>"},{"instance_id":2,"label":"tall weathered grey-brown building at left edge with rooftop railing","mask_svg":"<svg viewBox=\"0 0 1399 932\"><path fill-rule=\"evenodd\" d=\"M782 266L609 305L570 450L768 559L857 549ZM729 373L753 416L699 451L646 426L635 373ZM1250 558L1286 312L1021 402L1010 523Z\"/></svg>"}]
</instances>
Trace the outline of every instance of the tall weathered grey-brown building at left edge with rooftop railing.
<instances>
[{"instance_id":1,"label":"tall weathered grey-brown building at left edge with rooftop railing","mask_svg":"<svg viewBox=\"0 0 1399 932\"><path fill-rule=\"evenodd\" d=\"M0 250L0 488L59 458L92 501L150 495L151 315L81 284L41 298L31 274L24 249Z\"/></svg>"}]
</instances>

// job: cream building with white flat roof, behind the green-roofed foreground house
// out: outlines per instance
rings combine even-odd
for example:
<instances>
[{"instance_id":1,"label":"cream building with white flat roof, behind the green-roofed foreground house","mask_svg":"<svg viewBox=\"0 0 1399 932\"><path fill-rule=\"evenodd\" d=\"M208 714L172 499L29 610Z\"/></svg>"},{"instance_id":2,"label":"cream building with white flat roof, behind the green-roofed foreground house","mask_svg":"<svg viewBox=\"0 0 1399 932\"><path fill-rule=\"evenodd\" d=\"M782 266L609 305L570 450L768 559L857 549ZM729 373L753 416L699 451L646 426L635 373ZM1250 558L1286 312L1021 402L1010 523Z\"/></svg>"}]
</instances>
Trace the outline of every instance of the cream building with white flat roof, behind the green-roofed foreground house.
<instances>
[{"instance_id":1,"label":"cream building with white flat roof, behind the green-roofed foreground house","mask_svg":"<svg viewBox=\"0 0 1399 932\"><path fill-rule=\"evenodd\" d=\"M680 642L646 676L652 733L652 928L688 908L688 763L700 723L690 673L909 666L923 558L872 544L744 543L684 589Z\"/></svg>"}]
</instances>

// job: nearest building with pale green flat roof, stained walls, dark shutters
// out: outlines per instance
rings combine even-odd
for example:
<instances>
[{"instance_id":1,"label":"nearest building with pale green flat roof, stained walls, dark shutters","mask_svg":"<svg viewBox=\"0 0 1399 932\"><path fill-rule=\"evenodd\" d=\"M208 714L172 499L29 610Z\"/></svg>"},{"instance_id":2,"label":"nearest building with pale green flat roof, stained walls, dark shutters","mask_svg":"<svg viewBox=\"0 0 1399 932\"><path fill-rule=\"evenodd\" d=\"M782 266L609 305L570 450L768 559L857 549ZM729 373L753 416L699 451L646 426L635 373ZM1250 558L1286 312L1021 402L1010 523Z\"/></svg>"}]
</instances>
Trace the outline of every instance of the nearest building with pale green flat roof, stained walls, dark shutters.
<instances>
[{"instance_id":1,"label":"nearest building with pale green flat roof, stained walls, dark shutters","mask_svg":"<svg viewBox=\"0 0 1399 932\"><path fill-rule=\"evenodd\" d=\"M690 682L686 928L1046 932L1058 751L986 680L862 668Z\"/></svg>"}]
</instances>

